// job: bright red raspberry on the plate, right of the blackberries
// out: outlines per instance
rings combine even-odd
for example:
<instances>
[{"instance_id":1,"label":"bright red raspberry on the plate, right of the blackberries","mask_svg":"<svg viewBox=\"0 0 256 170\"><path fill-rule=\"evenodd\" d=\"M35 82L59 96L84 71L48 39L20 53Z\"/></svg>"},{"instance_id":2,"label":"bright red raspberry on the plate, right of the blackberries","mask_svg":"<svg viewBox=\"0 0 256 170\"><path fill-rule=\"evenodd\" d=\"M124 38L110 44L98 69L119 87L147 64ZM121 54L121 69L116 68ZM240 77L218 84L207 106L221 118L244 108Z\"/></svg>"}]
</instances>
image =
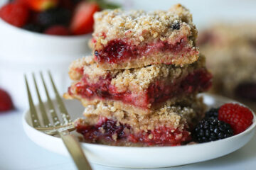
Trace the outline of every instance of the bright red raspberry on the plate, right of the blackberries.
<instances>
[{"instance_id":1,"label":"bright red raspberry on the plate, right of the blackberries","mask_svg":"<svg viewBox=\"0 0 256 170\"><path fill-rule=\"evenodd\" d=\"M218 119L229 123L237 135L252 124L252 112L249 108L235 103L226 103L218 111Z\"/></svg>"}]
</instances>

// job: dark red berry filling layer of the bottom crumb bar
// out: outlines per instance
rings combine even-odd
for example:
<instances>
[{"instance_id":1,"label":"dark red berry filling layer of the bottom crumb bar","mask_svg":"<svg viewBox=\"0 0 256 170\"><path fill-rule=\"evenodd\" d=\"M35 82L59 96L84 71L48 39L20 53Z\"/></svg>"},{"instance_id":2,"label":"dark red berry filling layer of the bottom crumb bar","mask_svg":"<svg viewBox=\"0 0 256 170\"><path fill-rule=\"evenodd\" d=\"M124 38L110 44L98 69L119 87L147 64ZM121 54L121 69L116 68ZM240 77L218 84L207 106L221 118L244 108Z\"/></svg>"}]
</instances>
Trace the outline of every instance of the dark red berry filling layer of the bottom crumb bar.
<instances>
[{"instance_id":1,"label":"dark red berry filling layer of the bottom crumb bar","mask_svg":"<svg viewBox=\"0 0 256 170\"><path fill-rule=\"evenodd\" d=\"M174 128L159 127L147 132L130 134L129 125L115 120L100 118L96 125L76 125L77 131L87 142L132 142L146 145L182 145L191 140L190 132Z\"/></svg>"}]
</instances>

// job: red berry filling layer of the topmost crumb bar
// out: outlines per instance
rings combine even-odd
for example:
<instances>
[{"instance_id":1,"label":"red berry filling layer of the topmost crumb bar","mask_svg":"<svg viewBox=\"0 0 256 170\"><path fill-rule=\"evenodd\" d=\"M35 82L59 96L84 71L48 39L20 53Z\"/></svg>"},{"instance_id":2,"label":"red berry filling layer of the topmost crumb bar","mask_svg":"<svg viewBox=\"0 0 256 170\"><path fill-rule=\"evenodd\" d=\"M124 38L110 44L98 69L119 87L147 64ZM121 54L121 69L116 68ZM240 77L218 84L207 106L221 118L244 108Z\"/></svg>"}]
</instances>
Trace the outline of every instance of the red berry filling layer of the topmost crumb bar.
<instances>
[{"instance_id":1,"label":"red berry filling layer of the topmost crumb bar","mask_svg":"<svg viewBox=\"0 0 256 170\"><path fill-rule=\"evenodd\" d=\"M171 52L174 55L178 55L180 52L184 54L190 52L196 54L197 51L193 50L191 47L186 47L187 44L187 38L181 38L175 44L169 44L167 41L159 40L158 42L152 42L141 46L131 45L128 42L119 39L110 40L102 50L95 50L95 60L101 63L108 62L114 64L156 52ZM169 64L171 64L171 61Z\"/></svg>"}]
</instances>

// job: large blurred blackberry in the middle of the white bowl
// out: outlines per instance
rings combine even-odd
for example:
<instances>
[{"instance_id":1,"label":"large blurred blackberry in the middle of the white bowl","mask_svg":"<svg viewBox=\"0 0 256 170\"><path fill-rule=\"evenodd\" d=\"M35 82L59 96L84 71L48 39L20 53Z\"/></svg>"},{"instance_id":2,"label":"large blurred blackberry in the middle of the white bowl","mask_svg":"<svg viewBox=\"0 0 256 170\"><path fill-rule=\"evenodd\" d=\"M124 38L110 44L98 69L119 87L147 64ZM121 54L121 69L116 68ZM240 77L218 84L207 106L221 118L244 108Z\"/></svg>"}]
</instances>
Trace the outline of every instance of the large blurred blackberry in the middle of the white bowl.
<instances>
[{"instance_id":1,"label":"large blurred blackberry in the middle of the white bowl","mask_svg":"<svg viewBox=\"0 0 256 170\"><path fill-rule=\"evenodd\" d=\"M61 25L68 26L71 19L71 12L65 8L50 8L47 11L38 13L37 23L43 27Z\"/></svg>"}]
</instances>

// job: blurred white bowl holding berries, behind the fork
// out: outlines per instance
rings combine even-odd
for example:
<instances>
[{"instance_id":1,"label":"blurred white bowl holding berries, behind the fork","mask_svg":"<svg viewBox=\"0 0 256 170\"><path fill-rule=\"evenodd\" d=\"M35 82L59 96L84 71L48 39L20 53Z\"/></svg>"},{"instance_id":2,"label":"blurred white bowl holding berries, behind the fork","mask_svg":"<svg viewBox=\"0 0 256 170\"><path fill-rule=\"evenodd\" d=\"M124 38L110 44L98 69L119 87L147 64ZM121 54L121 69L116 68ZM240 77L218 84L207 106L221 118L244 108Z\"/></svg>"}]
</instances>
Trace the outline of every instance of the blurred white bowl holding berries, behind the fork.
<instances>
[{"instance_id":1,"label":"blurred white bowl holding berries, behind the fork","mask_svg":"<svg viewBox=\"0 0 256 170\"><path fill-rule=\"evenodd\" d=\"M0 0L4 4L6 0ZM0 18L0 87L11 94L18 108L26 108L24 73L50 70L60 91L69 84L71 61L90 54L91 34L56 36L33 33L11 26Z\"/></svg>"}]
</instances>

